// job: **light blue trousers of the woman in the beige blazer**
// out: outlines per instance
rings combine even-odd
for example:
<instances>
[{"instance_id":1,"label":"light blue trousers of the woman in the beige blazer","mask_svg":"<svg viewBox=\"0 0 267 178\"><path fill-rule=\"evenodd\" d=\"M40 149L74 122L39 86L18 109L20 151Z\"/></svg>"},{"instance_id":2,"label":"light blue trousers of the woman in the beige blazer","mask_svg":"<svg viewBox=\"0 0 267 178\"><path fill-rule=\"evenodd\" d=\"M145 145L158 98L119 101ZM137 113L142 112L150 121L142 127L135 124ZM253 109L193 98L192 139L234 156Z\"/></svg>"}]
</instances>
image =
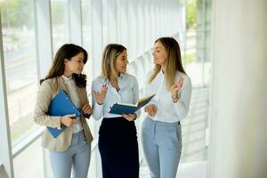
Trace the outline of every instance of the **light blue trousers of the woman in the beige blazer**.
<instances>
[{"instance_id":1,"label":"light blue trousers of the woman in the beige blazer","mask_svg":"<svg viewBox=\"0 0 267 178\"><path fill-rule=\"evenodd\" d=\"M49 150L54 178L69 178L71 167L76 178L87 178L91 158L91 143L86 142L84 131L72 134L69 149L64 152Z\"/></svg>"}]
</instances>

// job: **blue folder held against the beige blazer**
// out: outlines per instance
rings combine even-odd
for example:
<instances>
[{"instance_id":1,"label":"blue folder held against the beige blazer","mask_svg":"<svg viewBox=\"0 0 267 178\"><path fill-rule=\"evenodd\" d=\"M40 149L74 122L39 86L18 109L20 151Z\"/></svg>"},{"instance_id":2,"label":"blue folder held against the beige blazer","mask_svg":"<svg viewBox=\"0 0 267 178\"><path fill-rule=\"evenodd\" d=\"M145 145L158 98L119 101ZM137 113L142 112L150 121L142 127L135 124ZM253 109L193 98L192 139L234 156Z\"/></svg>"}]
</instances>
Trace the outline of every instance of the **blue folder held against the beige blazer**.
<instances>
[{"instance_id":1,"label":"blue folder held against the beige blazer","mask_svg":"<svg viewBox=\"0 0 267 178\"><path fill-rule=\"evenodd\" d=\"M67 93L64 90L61 90L60 93L53 98L48 109L48 115L50 116L65 116L68 114L75 114L75 117L80 117L81 112L69 99ZM53 135L53 138L56 138L61 134L67 126L61 126L61 129L56 129L50 126L46 126L49 132Z\"/></svg>"}]
</instances>

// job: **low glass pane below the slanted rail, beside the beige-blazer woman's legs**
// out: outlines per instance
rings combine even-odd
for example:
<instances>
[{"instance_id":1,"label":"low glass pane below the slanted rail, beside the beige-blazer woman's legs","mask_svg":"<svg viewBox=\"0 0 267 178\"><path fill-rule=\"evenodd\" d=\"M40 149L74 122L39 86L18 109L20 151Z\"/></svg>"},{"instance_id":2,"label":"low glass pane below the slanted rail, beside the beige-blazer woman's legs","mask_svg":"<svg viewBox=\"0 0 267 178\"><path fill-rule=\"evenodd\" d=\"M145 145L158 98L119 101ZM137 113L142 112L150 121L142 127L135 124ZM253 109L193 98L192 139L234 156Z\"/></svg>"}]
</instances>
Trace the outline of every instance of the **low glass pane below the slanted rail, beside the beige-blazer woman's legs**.
<instances>
[{"instance_id":1,"label":"low glass pane below the slanted rail, beside the beige-blazer woman's legs","mask_svg":"<svg viewBox=\"0 0 267 178\"><path fill-rule=\"evenodd\" d=\"M30 159L30 161L29 161ZM44 159L41 138L13 159L16 178L43 178Z\"/></svg>"}]
</instances>

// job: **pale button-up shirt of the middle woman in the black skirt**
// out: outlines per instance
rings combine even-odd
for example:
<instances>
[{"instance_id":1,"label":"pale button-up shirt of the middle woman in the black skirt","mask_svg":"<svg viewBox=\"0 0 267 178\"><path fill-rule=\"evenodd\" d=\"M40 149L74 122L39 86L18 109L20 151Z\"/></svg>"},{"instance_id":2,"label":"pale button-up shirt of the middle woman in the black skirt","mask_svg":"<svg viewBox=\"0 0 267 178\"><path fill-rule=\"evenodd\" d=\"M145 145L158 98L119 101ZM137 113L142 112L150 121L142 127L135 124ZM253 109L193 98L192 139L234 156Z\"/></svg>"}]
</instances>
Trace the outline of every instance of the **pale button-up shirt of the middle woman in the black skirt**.
<instances>
[{"instance_id":1,"label":"pale button-up shirt of the middle woman in the black skirt","mask_svg":"<svg viewBox=\"0 0 267 178\"><path fill-rule=\"evenodd\" d=\"M99 105L92 94L93 101L93 118L100 119L101 117L121 117L121 115L110 114L109 110L116 102L123 102L129 104L135 104L139 99L139 86L134 76L121 73L117 78L119 91L113 87L107 78L97 77L92 83L93 91L101 92L102 85L108 86L108 91L103 104ZM137 116L140 115L140 110L136 112Z\"/></svg>"}]
</instances>

